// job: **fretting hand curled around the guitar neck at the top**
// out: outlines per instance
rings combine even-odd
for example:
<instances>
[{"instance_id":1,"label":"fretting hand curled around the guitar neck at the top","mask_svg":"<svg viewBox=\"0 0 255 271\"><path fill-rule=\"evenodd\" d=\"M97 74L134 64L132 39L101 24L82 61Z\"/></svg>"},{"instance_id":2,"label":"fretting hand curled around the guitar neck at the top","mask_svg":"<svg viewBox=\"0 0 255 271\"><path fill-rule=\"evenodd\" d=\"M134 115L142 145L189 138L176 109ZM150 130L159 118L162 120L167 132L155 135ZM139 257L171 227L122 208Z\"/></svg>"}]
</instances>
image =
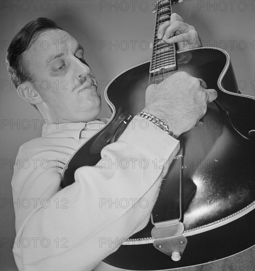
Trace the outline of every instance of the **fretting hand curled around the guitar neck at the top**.
<instances>
[{"instance_id":1,"label":"fretting hand curled around the guitar neck at the top","mask_svg":"<svg viewBox=\"0 0 255 271\"><path fill-rule=\"evenodd\" d=\"M183 18L176 13L172 13L170 21L159 26L158 38L166 43L177 42L178 51L201 47L195 28L185 23Z\"/></svg>"}]
</instances>

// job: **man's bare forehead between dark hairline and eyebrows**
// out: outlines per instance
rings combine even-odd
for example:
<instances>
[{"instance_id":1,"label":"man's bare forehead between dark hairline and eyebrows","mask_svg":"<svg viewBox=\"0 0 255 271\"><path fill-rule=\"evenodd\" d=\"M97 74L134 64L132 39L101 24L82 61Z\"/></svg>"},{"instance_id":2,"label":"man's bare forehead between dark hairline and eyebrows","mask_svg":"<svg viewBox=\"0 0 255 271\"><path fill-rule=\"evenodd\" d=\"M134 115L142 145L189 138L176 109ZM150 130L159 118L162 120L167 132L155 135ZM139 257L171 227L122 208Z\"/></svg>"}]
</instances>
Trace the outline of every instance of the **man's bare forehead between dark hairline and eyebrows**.
<instances>
[{"instance_id":1,"label":"man's bare forehead between dark hairline and eyebrows","mask_svg":"<svg viewBox=\"0 0 255 271\"><path fill-rule=\"evenodd\" d=\"M67 32L60 29L47 30L32 39L32 45L24 52L27 60L46 60L51 54L74 51L78 42Z\"/></svg>"}]
</instances>

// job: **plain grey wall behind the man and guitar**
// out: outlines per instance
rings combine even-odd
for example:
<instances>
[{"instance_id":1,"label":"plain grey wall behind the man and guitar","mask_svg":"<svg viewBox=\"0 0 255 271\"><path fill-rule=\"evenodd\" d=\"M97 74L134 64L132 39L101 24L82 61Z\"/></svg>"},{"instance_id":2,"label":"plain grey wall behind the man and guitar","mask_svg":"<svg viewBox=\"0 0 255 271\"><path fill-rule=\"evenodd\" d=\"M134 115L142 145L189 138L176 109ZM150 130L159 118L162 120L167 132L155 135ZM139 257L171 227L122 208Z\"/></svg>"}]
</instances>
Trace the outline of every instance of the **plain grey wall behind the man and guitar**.
<instances>
[{"instance_id":1,"label":"plain grey wall behind the man and guitar","mask_svg":"<svg viewBox=\"0 0 255 271\"><path fill-rule=\"evenodd\" d=\"M10 82L5 67L8 44L31 20L37 17L55 20L84 46L86 60L96 74L103 96L106 83L113 77L127 68L150 60L151 49L148 47L154 34L155 15L151 12L154 2L119 0L116 7L115 0L1 0L2 271L16 270L11 244L15 237L10 184L12 164L19 146L41 135L42 120L32 106L18 97L15 87ZM218 46L229 53L241 92L252 96L255 96L254 11L254 0L184 0L183 5L173 7L173 12L180 14L196 28L204 46ZM110 117L110 111L104 101L100 116Z\"/></svg>"}]
</instances>

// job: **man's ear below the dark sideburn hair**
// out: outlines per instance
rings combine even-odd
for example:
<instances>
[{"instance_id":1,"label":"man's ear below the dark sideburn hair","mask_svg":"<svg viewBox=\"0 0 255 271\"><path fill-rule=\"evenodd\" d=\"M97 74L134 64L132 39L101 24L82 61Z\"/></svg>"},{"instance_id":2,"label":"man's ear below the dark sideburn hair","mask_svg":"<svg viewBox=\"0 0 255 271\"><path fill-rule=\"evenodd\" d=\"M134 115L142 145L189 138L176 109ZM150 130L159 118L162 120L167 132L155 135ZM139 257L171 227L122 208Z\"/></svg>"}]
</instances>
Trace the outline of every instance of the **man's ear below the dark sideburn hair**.
<instances>
[{"instance_id":1,"label":"man's ear below the dark sideburn hair","mask_svg":"<svg viewBox=\"0 0 255 271\"><path fill-rule=\"evenodd\" d=\"M39 104L42 102L41 96L38 94L32 83L24 82L17 87L19 97L32 104Z\"/></svg>"}]
</instances>

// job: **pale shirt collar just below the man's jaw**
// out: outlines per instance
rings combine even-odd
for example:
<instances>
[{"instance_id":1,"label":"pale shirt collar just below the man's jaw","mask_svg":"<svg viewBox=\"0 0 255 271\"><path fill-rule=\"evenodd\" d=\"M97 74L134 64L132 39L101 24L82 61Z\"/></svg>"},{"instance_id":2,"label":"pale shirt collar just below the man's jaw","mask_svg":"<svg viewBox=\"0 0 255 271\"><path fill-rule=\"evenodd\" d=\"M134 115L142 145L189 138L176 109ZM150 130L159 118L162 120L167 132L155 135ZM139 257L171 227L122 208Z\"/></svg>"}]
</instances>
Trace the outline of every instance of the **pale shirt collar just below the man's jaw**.
<instances>
[{"instance_id":1,"label":"pale shirt collar just below the man's jaw","mask_svg":"<svg viewBox=\"0 0 255 271\"><path fill-rule=\"evenodd\" d=\"M66 122L66 123L49 123L45 122L42 126L42 137L73 137L80 139L81 131L86 127L93 127L93 124L105 124L105 120L95 120L91 122ZM102 127L98 125L98 127Z\"/></svg>"}]
</instances>

